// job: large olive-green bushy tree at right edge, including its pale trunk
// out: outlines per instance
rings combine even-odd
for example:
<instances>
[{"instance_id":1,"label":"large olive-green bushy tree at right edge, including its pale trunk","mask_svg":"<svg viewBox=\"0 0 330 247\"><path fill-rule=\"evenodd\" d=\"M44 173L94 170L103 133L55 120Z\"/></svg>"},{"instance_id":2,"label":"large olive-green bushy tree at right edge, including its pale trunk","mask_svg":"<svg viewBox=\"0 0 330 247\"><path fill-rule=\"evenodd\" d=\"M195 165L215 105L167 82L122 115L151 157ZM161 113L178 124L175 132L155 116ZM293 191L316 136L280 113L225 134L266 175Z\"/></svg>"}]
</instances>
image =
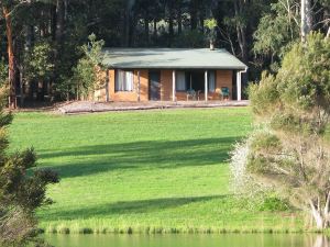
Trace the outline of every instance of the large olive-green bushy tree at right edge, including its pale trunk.
<instances>
[{"instance_id":1,"label":"large olive-green bushy tree at right edge, including its pale trunk","mask_svg":"<svg viewBox=\"0 0 330 247\"><path fill-rule=\"evenodd\" d=\"M295 206L329 227L330 42L311 33L285 55L276 76L250 87L257 131L251 135L246 170Z\"/></svg>"}]
</instances>

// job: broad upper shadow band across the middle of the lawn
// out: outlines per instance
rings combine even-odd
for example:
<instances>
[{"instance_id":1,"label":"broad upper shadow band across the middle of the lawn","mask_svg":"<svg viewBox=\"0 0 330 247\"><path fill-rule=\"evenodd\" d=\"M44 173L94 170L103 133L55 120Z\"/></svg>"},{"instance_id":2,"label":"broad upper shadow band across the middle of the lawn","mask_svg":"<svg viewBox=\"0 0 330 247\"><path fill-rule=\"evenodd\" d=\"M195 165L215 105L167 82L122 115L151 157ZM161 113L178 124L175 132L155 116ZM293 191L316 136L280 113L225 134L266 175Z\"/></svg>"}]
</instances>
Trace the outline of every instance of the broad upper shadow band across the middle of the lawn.
<instances>
[{"instance_id":1,"label":"broad upper shadow band across the middle of the lawn","mask_svg":"<svg viewBox=\"0 0 330 247\"><path fill-rule=\"evenodd\" d=\"M235 141L238 137L80 146L58 151L38 150L38 158L61 178L117 169L170 169L224 162Z\"/></svg>"}]
</instances>

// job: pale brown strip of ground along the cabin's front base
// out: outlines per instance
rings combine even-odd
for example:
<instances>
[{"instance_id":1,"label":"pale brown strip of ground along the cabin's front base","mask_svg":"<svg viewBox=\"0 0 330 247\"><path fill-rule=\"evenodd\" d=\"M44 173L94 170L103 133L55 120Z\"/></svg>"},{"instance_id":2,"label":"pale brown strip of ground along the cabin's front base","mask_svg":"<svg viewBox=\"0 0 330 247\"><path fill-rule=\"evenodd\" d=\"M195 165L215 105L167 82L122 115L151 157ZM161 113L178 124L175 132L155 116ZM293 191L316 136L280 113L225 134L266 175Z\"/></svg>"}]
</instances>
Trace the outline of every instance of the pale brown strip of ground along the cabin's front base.
<instances>
[{"instance_id":1,"label":"pale brown strip of ground along the cabin's front base","mask_svg":"<svg viewBox=\"0 0 330 247\"><path fill-rule=\"evenodd\" d=\"M57 110L64 114L79 114L92 112L111 111L136 111L155 109L179 109L179 108L230 108L246 106L249 101L148 101L148 102L90 102L76 101L61 105Z\"/></svg>"}]
</instances>

